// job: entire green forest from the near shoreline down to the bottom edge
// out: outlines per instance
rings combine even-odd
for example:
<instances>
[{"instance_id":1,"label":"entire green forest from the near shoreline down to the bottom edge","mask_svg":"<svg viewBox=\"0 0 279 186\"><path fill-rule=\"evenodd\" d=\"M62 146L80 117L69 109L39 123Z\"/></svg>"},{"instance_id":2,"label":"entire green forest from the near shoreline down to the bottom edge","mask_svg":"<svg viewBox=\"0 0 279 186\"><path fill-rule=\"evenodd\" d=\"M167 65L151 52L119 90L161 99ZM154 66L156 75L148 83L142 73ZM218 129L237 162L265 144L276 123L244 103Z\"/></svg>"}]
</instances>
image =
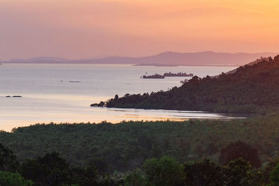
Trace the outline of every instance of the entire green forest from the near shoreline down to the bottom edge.
<instances>
[{"instance_id":1,"label":"entire green forest from the near shoreline down to the bottom edge","mask_svg":"<svg viewBox=\"0 0 279 186\"><path fill-rule=\"evenodd\" d=\"M0 133L1 144L11 149L0 152L0 171L35 185L56 185L48 183L56 173L66 173L59 177L60 185L86 185L82 180L90 182L88 185L234 185L234 181L267 185L272 182L273 170L279 171L278 121L278 113L273 113L232 121L18 127ZM11 163L1 165L6 162ZM239 164L238 171L235 164ZM216 174L210 178L203 175L213 174L211 169ZM50 178L40 178L48 173Z\"/></svg>"}]
</instances>

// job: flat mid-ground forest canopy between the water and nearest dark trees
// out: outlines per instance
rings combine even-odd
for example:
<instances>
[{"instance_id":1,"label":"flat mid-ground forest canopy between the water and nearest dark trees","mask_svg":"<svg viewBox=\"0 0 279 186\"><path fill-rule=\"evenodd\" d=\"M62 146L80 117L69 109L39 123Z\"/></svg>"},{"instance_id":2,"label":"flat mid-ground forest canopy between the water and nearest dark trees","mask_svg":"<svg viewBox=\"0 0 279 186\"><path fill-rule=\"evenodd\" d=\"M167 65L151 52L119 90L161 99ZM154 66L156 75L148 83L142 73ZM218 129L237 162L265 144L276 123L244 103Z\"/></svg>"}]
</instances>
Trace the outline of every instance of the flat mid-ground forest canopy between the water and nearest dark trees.
<instances>
[{"instance_id":1,"label":"flat mid-ground forest canopy between the water and nearest dark trees","mask_svg":"<svg viewBox=\"0 0 279 186\"><path fill-rule=\"evenodd\" d=\"M123 122L19 127L1 132L0 141L20 162L56 151L72 165L94 164L105 172L128 171L151 157L172 156L183 163L218 159L220 149L243 141L263 161L276 155L278 116L233 121Z\"/></svg>"}]
</instances>

